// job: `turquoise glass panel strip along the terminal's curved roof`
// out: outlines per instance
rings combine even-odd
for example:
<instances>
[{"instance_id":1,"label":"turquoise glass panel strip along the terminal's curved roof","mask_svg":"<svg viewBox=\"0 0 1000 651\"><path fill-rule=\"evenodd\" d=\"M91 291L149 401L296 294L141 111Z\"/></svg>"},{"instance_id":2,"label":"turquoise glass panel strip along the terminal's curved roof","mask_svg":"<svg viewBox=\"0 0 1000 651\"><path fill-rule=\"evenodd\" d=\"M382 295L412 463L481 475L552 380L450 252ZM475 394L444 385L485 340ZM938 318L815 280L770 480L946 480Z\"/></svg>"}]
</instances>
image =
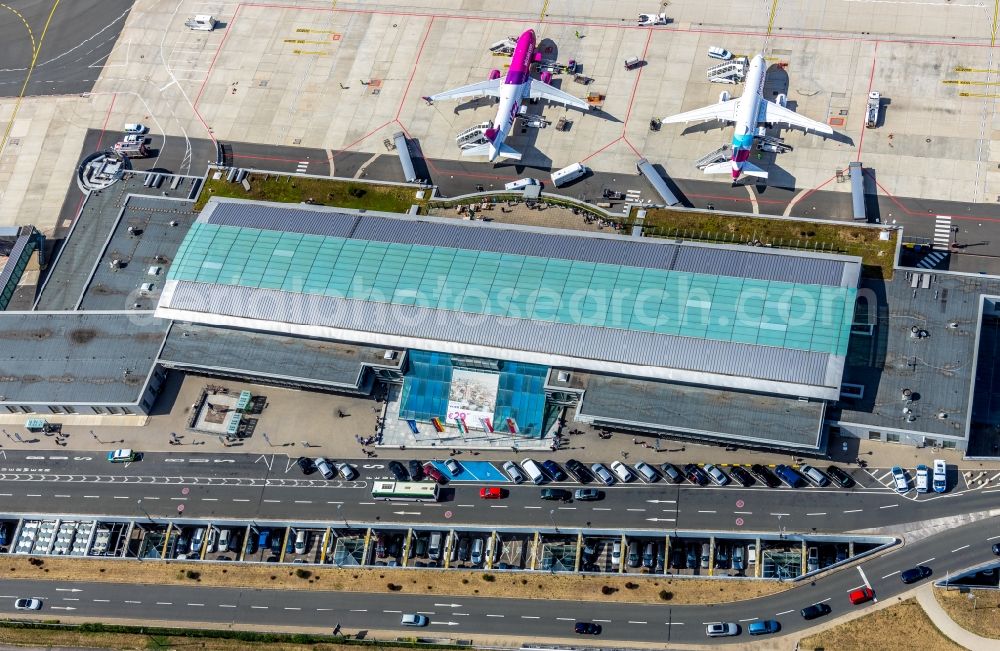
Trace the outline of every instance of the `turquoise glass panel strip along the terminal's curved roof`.
<instances>
[{"instance_id":1,"label":"turquoise glass panel strip along the terminal's curved roof","mask_svg":"<svg viewBox=\"0 0 1000 651\"><path fill-rule=\"evenodd\" d=\"M195 223L172 280L844 355L857 290Z\"/></svg>"}]
</instances>

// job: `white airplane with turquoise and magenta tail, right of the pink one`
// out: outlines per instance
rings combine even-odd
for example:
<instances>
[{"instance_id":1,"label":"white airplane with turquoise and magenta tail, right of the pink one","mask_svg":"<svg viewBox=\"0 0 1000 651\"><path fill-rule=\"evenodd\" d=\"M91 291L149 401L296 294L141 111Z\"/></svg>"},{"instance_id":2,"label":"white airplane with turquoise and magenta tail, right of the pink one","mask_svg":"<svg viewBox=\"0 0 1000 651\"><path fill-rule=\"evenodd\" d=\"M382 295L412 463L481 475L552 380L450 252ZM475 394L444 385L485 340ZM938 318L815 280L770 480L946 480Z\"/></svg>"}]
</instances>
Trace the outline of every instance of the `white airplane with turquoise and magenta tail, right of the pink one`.
<instances>
[{"instance_id":1,"label":"white airplane with turquoise and magenta tail, right of the pink one","mask_svg":"<svg viewBox=\"0 0 1000 651\"><path fill-rule=\"evenodd\" d=\"M736 123L733 131L732 158L707 166L705 168L706 174L732 172L734 181L740 178L741 174L766 179L767 172L749 160L754 134L757 131L757 126L761 123L777 122L819 133L833 133L833 129L829 125L802 117L795 111L785 108L784 95L778 95L777 102L764 99L764 75L766 71L767 64L764 62L764 55L758 54L750 62L743 95L736 99L730 99L729 93L722 91L718 104L663 118L662 122L664 123L704 122L706 120Z\"/></svg>"}]
</instances>

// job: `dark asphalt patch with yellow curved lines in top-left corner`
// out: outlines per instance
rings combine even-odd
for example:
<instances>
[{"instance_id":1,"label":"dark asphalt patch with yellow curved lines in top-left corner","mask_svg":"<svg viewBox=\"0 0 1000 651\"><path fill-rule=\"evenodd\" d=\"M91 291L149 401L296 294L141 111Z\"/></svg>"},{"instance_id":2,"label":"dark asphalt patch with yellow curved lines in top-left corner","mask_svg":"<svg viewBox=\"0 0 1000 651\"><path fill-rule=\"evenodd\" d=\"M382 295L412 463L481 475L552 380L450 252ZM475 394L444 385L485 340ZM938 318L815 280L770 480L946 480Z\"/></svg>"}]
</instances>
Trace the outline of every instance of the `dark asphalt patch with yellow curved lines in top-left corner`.
<instances>
[{"instance_id":1,"label":"dark asphalt patch with yellow curved lines in top-left corner","mask_svg":"<svg viewBox=\"0 0 1000 651\"><path fill-rule=\"evenodd\" d=\"M22 88L25 96L92 90L133 2L73 0L52 11L51 0L8 0L0 6L0 96L16 97Z\"/></svg>"}]
</instances>

